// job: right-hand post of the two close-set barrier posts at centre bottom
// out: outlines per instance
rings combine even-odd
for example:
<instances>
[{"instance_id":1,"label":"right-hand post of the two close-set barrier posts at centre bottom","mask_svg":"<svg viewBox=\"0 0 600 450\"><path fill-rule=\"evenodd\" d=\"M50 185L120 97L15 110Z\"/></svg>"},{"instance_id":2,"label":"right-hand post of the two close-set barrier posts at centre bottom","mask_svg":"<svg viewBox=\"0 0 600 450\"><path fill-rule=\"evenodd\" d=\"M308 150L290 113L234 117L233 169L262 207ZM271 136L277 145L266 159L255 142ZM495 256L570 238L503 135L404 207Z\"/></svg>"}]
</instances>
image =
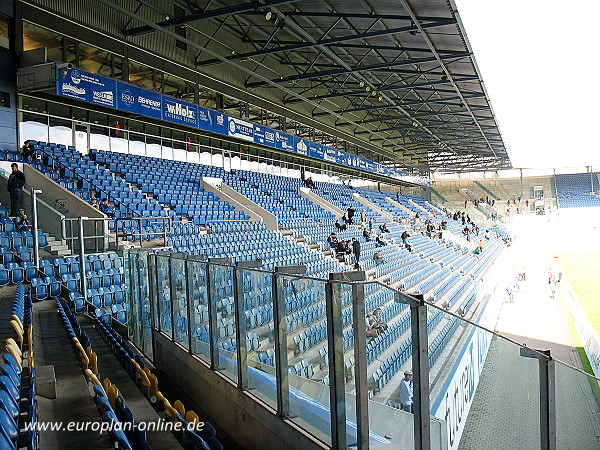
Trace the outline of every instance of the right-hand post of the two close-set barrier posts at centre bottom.
<instances>
[{"instance_id":1,"label":"right-hand post of the two close-set barrier posts at centre bottom","mask_svg":"<svg viewBox=\"0 0 600 450\"><path fill-rule=\"evenodd\" d=\"M365 329L365 286L352 285L352 329L354 330L354 382L356 385L356 441L358 450L369 448L369 388L367 378L367 336Z\"/></svg>"}]
</instances>

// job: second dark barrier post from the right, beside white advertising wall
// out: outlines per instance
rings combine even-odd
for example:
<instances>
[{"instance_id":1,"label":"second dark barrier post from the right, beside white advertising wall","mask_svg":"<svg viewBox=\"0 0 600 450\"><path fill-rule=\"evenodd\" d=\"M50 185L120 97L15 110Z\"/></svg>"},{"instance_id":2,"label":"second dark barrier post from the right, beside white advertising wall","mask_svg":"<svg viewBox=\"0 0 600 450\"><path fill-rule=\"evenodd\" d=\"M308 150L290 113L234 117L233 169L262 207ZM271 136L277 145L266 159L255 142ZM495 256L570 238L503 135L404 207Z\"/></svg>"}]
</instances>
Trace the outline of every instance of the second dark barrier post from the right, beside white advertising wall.
<instances>
[{"instance_id":1,"label":"second dark barrier post from the right, beside white advertising wall","mask_svg":"<svg viewBox=\"0 0 600 450\"><path fill-rule=\"evenodd\" d=\"M395 301L410 306L412 363L414 448L431 448L429 414L429 345L427 340L427 304L422 295L408 296L396 293Z\"/></svg>"}]
</instances>

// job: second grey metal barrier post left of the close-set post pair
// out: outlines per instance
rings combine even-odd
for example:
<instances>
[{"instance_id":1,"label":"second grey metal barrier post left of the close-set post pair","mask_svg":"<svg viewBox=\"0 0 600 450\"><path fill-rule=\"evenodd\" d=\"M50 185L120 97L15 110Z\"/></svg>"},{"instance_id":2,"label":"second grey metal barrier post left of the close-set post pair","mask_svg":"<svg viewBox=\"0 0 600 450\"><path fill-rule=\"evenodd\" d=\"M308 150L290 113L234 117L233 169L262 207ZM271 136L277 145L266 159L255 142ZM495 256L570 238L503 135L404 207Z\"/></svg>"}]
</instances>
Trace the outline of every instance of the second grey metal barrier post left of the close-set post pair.
<instances>
[{"instance_id":1,"label":"second grey metal barrier post left of the close-set post pair","mask_svg":"<svg viewBox=\"0 0 600 450\"><path fill-rule=\"evenodd\" d=\"M244 314L244 271L243 269L259 269L262 261L238 261L235 264L233 283L233 314L235 317L235 339L238 368L238 388L249 389L248 385L248 347L246 345L246 315Z\"/></svg>"}]
</instances>

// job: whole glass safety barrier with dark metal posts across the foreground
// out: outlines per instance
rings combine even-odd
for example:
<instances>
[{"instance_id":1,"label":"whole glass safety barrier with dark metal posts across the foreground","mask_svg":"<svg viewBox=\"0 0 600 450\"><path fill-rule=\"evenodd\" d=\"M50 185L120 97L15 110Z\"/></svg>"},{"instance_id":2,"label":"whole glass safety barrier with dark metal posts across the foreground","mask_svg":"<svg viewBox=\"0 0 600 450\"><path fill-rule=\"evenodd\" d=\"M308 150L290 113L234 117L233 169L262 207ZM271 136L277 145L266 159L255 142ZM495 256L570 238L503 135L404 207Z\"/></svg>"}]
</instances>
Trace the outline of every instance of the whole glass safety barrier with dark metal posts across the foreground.
<instances>
[{"instance_id":1,"label":"whole glass safety barrier with dark metal posts across the foreground","mask_svg":"<svg viewBox=\"0 0 600 450\"><path fill-rule=\"evenodd\" d=\"M362 272L317 279L141 249L124 259L129 335L150 359L185 352L331 448L477 447L481 433L501 448L597 446L585 427L598 425L600 380L494 332L501 283L445 310ZM377 308L386 325L367 336ZM173 347L156 347L157 333Z\"/></svg>"}]
</instances>

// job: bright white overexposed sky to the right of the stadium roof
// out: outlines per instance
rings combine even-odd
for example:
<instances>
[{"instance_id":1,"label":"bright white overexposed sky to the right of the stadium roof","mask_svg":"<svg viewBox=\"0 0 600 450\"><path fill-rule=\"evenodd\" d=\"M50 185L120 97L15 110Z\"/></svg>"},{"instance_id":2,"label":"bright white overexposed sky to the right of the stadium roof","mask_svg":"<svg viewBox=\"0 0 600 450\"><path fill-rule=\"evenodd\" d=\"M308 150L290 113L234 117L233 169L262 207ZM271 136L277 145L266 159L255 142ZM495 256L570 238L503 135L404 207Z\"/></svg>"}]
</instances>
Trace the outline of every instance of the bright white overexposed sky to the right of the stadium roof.
<instances>
[{"instance_id":1,"label":"bright white overexposed sky to the right of the stadium roof","mask_svg":"<svg viewBox=\"0 0 600 450\"><path fill-rule=\"evenodd\" d=\"M513 167L600 170L600 1L455 1Z\"/></svg>"}]
</instances>

